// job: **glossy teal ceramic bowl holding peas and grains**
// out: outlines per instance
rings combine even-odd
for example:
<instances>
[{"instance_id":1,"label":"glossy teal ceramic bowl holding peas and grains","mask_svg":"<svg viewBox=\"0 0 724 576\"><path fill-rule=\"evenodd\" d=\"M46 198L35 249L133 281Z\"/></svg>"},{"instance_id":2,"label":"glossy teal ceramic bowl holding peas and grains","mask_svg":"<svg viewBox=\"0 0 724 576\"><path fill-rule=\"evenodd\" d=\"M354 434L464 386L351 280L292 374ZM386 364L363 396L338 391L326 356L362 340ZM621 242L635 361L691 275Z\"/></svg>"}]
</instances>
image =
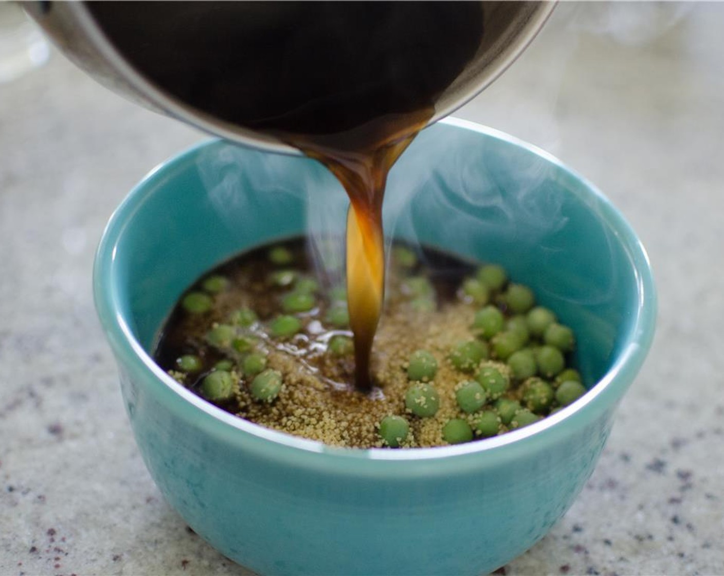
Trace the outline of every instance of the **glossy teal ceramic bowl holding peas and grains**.
<instances>
[{"instance_id":1,"label":"glossy teal ceramic bowl holding peas and grains","mask_svg":"<svg viewBox=\"0 0 724 576\"><path fill-rule=\"evenodd\" d=\"M578 335L590 391L552 417L443 448L329 448L232 417L150 356L194 280L299 235L344 196L316 162L203 143L117 209L96 306L153 480L196 533L261 574L480 574L547 533L581 491L644 362L655 295L620 213L548 154L460 121L424 130L390 175L388 233L500 262ZM331 206L331 207L330 207Z\"/></svg>"}]
</instances>

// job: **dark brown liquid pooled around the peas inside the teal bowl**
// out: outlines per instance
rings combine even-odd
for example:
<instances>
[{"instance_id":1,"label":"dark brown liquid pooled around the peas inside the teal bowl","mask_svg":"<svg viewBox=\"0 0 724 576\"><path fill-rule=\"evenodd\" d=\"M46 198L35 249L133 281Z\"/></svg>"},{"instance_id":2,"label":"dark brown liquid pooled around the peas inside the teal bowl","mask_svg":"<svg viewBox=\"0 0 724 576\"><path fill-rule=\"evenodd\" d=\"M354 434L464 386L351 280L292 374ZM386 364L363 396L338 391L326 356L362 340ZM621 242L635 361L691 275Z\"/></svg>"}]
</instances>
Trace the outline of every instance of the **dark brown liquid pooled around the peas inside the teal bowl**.
<instances>
[{"instance_id":1,"label":"dark brown liquid pooled around the peas inside the teal bowl","mask_svg":"<svg viewBox=\"0 0 724 576\"><path fill-rule=\"evenodd\" d=\"M396 243L397 246L405 246ZM272 246L285 246L293 255L295 270L301 275L313 274L313 267L306 251L306 238L292 238L282 243L258 246L255 249L237 254L227 262L209 270L203 278L221 275L230 280L229 287L222 299L216 297L211 311L201 316L188 314L180 304L175 306L169 319L164 324L153 352L153 358L164 370L177 370L177 359L184 354L195 354L203 362L203 368L196 372L195 380L187 383L188 387L198 392L203 377L208 374L216 362L226 356L210 346L205 340L209 327L214 322L228 322L229 315L240 305L253 309L261 320L261 325L281 313L280 298L289 293L290 288L269 286L269 277L279 270L279 266L269 262L269 249ZM473 274L475 262L468 262L460 256L449 254L431 246L419 246L412 251L418 254L418 264L413 269L401 270L396 267L390 275L390 310L409 305L409 296L403 296L400 284L405 277L424 275L434 286L434 293L439 309L458 300L458 291L464 278ZM203 291L203 279L189 288L189 291ZM264 336L267 346L285 351L298 360L300 366L306 365L308 370L329 384L328 393L340 403L348 403L350 384L353 380L354 367L348 357L340 356L330 362L327 353L327 342L332 335L344 334L348 331L338 327L330 327L325 320L333 302L328 295L320 294L316 306L302 315L306 328L291 340L278 341ZM358 402L361 400L358 400ZM364 406L368 406L364 404ZM365 409L361 406L361 409Z\"/></svg>"}]
</instances>

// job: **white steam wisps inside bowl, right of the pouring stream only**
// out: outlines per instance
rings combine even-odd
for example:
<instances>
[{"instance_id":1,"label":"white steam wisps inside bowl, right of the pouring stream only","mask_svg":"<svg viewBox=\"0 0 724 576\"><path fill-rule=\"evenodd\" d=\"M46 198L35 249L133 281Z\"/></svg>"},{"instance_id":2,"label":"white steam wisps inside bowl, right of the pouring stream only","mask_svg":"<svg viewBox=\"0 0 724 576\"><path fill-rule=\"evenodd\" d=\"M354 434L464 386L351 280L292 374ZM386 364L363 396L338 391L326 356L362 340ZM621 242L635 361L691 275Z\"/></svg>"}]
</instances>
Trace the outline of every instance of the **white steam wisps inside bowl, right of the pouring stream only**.
<instances>
[{"instance_id":1,"label":"white steam wisps inside bowl, right of the pouring stream only","mask_svg":"<svg viewBox=\"0 0 724 576\"><path fill-rule=\"evenodd\" d=\"M560 195L543 186L550 164L473 133L447 129L442 135L439 128L421 133L392 169L385 199L390 238L455 246L473 256L481 230L511 240L525 235L535 245L565 226Z\"/></svg>"}]
</instances>

